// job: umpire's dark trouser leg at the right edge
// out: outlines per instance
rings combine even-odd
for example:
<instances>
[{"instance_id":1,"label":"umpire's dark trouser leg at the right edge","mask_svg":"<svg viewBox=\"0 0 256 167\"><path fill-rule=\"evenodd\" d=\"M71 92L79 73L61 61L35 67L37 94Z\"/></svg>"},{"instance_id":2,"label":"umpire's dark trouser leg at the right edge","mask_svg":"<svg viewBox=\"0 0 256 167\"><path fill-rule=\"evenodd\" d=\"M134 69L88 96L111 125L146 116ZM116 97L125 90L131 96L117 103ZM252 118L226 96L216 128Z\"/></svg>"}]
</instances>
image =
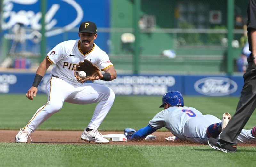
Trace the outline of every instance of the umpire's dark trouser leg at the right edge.
<instances>
[{"instance_id":1,"label":"umpire's dark trouser leg at the right edge","mask_svg":"<svg viewBox=\"0 0 256 167\"><path fill-rule=\"evenodd\" d=\"M248 58L250 59L250 58ZM249 62L244 74L244 86L241 92L236 112L228 125L220 134L220 138L231 143L237 143L237 137L256 108L256 68Z\"/></svg>"}]
</instances>

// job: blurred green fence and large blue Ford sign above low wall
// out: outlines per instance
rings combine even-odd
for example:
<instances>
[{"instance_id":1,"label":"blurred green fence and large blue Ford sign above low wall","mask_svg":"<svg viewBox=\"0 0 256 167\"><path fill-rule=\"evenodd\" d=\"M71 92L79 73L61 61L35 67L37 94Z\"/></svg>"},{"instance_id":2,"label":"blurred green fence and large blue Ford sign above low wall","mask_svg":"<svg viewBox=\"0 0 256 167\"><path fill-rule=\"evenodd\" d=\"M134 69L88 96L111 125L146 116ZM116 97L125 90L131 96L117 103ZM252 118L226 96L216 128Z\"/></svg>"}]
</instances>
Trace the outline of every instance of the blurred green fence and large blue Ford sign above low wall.
<instances>
[{"instance_id":1,"label":"blurred green fence and large blue Ford sign above low wall","mask_svg":"<svg viewBox=\"0 0 256 167\"><path fill-rule=\"evenodd\" d=\"M119 73L244 73L248 0L1 0L0 70L34 71L82 21ZM42 22L43 20L43 22Z\"/></svg>"}]
</instances>

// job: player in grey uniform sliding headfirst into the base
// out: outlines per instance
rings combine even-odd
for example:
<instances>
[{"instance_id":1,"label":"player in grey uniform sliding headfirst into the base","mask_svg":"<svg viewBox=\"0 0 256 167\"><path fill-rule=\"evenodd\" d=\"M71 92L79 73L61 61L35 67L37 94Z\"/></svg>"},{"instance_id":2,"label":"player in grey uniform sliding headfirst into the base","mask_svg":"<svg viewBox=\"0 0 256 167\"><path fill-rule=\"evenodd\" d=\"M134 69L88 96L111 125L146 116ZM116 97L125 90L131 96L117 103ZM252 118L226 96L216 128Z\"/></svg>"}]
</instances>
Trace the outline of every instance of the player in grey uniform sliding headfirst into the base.
<instances>
[{"instance_id":1,"label":"player in grey uniform sliding headfirst into the base","mask_svg":"<svg viewBox=\"0 0 256 167\"><path fill-rule=\"evenodd\" d=\"M184 106L183 97L178 91L167 92L164 94L162 101L160 107L164 107L164 110L157 113L149 121L148 126L137 132L131 128L124 130L128 140L144 139L157 129L165 127L176 136L176 139L207 144L209 137L219 137L231 118L230 114L224 113L221 121L213 115L203 115L195 108ZM255 130L256 127L251 130L243 129L238 140L244 143L256 141ZM168 139L171 138L166 140Z\"/></svg>"}]
</instances>

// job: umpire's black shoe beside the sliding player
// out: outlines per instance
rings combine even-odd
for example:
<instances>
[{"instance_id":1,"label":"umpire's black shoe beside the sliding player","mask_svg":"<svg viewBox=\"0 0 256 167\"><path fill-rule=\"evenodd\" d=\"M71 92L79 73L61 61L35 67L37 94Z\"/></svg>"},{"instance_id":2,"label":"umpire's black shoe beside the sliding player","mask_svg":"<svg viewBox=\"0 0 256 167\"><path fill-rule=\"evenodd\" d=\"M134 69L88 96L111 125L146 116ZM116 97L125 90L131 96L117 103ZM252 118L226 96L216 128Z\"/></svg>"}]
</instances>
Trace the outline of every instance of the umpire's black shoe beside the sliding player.
<instances>
[{"instance_id":1,"label":"umpire's black shoe beside the sliding player","mask_svg":"<svg viewBox=\"0 0 256 167\"><path fill-rule=\"evenodd\" d=\"M208 144L210 147L212 147L213 149L217 149L220 150L224 153L228 153L228 152L236 152L236 144L234 143L230 143L230 142L226 142L222 139L215 139L210 137L208 139Z\"/></svg>"}]
</instances>

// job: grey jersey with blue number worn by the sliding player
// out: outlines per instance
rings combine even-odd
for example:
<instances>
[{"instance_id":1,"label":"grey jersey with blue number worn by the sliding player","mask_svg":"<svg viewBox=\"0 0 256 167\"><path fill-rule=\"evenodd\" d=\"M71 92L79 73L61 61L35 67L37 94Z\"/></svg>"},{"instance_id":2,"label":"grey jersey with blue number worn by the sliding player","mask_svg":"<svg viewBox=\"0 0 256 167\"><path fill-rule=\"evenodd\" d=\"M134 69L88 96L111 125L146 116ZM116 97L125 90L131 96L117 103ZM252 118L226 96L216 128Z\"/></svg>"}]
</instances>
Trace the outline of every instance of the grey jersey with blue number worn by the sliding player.
<instances>
[{"instance_id":1,"label":"grey jersey with blue number worn by the sliding player","mask_svg":"<svg viewBox=\"0 0 256 167\"><path fill-rule=\"evenodd\" d=\"M182 130L185 123L191 118L202 116L203 114L192 107L169 107L162 110L149 121L149 126L155 129L167 128L176 137L185 140Z\"/></svg>"}]
</instances>

